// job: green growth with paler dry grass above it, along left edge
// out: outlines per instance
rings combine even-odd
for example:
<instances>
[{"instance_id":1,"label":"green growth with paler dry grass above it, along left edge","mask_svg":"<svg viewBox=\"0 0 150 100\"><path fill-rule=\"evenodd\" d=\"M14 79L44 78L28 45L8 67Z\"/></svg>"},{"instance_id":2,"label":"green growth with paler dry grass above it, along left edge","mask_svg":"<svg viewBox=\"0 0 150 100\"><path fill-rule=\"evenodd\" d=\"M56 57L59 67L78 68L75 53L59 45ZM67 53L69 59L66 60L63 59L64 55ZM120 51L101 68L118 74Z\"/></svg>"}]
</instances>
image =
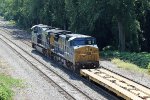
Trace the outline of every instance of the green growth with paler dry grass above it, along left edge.
<instances>
[{"instance_id":1,"label":"green growth with paler dry grass above it, along left edge","mask_svg":"<svg viewBox=\"0 0 150 100\"><path fill-rule=\"evenodd\" d=\"M12 100L12 88L22 88L23 82L8 75L8 64L0 58L0 100Z\"/></svg>"}]
</instances>

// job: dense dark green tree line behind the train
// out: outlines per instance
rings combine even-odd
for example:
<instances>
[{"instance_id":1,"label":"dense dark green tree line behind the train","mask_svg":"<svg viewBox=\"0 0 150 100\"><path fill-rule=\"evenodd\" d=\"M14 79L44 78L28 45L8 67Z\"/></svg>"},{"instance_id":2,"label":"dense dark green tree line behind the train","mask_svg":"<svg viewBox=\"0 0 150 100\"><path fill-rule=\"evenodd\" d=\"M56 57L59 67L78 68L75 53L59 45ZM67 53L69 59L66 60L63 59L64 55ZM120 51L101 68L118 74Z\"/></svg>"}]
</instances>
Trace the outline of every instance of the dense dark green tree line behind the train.
<instances>
[{"instance_id":1,"label":"dense dark green tree line behind the train","mask_svg":"<svg viewBox=\"0 0 150 100\"><path fill-rule=\"evenodd\" d=\"M92 35L100 49L150 52L150 0L0 0L0 14Z\"/></svg>"}]
</instances>

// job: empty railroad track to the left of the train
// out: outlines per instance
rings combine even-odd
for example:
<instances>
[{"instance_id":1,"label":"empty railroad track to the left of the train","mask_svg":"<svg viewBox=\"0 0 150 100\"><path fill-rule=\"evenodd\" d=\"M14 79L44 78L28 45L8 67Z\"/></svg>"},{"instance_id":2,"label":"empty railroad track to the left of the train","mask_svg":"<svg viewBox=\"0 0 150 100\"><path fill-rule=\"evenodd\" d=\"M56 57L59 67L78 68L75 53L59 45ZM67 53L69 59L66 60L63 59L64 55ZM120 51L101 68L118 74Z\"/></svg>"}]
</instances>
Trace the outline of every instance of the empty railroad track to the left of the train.
<instances>
[{"instance_id":1,"label":"empty railroad track to the left of the train","mask_svg":"<svg viewBox=\"0 0 150 100\"><path fill-rule=\"evenodd\" d=\"M17 44L9 40L7 37L0 35L0 40L7 44L12 50L14 50L17 54L21 56L24 60L26 60L32 67L34 67L37 71L42 73L48 81L52 82L57 88L60 89L60 92L67 99L83 99L83 100L93 100L88 94L81 91L78 87L71 84L65 78L60 76L54 70L51 70L50 67L33 57L27 51L19 47Z\"/></svg>"}]
</instances>

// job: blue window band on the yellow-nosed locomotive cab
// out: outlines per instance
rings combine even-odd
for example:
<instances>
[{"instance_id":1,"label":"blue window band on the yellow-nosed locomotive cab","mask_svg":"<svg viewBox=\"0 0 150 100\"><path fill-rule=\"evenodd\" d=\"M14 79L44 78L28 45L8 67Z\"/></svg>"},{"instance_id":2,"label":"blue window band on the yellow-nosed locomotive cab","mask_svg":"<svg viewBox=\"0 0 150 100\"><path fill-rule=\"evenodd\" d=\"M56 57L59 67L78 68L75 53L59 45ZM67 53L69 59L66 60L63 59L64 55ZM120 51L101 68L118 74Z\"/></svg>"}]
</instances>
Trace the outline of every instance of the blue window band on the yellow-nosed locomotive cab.
<instances>
[{"instance_id":1,"label":"blue window band on the yellow-nosed locomotive cab","mask_svg":"<svg viewBox=\"0 0 150 100\"><path fill-rule=\"evenodd\" d=\"M94 45L96 44L95 38L80 38L74 39L71 41L71 46L78 46L78 45Z\"/></svg>"}]
</instances>

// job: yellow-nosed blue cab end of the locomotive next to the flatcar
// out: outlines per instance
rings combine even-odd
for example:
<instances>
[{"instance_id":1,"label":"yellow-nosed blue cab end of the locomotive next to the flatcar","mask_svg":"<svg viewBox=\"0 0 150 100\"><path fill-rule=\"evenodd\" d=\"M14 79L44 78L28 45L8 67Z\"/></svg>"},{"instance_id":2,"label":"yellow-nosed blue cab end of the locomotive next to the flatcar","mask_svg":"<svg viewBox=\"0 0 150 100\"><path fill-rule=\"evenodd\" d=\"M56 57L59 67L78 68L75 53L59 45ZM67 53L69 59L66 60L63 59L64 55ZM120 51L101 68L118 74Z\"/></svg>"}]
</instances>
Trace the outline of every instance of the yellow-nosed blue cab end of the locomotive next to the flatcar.
<instances>
[{"instance_id":1,"label":"yellow-nosed blue cab end of the locomotive next to the flatcar","mask_svg":"<svg viewBox=\"0 0 150 100\"><path fill-rule=\"evenodd\" d=\"M74 51L74 65L77 69L99 67L99 49L96 39L91 36L75 34L70 38L70 47Z\"/></svg>"}]
</instances>

